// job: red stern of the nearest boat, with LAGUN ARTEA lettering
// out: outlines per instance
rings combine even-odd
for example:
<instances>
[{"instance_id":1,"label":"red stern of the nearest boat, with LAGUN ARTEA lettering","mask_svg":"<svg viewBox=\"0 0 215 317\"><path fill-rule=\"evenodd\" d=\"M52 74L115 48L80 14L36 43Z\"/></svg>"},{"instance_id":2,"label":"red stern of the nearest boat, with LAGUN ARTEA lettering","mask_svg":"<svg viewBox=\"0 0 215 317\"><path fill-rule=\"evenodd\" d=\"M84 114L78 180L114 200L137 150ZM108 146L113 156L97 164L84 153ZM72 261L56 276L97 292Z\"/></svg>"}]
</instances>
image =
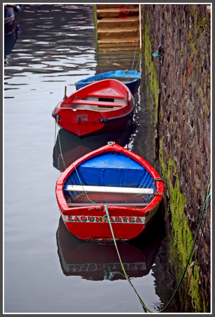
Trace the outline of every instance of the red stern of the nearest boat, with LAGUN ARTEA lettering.
<instances>
[{"instance_id":1,"label":"red stern of the nearest boat, with LAGUN ARTEA lettering","mask_svg":"<svg viewBox=\"0 0 215 317\"><path fill-rule=\"evenodd\" d=\"M148 213L135 210L135 208L123 208L108 206L108 213L116 241L134 239L153 220L161 200ZM80 210L81 209L81 210ZM85 241L113 241L110 224L106 216L104 206L78 208L63 213L61 217L69 232ZM132 216L131 216L132 215Z\"/></svg>"}]
</instances>

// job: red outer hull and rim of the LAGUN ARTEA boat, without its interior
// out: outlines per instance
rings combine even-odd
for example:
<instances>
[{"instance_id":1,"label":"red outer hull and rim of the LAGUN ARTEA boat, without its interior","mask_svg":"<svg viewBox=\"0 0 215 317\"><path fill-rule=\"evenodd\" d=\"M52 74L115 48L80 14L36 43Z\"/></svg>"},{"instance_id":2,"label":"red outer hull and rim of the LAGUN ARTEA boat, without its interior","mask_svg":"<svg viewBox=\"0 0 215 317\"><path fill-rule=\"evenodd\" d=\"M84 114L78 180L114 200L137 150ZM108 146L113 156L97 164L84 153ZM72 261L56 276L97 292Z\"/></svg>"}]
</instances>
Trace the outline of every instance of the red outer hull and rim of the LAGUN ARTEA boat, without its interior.
<instances>
[{"instance_id":1,"label":"red outer hull and rim of the LAGUN ARTEA boat, without its interior","mask_svg":"<svg viewBox=\"0 0 215 317\"><path fill-rule=\"evenodd\" d=\"M119 152L142 165L152 176L152 178L160 178L155 169L147 163L139 155L117 145L103 146L93 152L90 152L82 158L76 160L70 165L58 178L56 183L56 198L61 212L61 217L68 230L82 240L113 240L106 210L104 204L82 205L80 207L69 207L64 197L63 186L69 175L88 159L95 157L104 152ZM109 205L108 212L116 240L125 241L138 236L151 222L164 195L164 183L156 181L157 193L152 201L144 207ZM114 195L114 194L113 194ZM108 205L108 204L107 204Z\"/></svg>"}]
</instances>

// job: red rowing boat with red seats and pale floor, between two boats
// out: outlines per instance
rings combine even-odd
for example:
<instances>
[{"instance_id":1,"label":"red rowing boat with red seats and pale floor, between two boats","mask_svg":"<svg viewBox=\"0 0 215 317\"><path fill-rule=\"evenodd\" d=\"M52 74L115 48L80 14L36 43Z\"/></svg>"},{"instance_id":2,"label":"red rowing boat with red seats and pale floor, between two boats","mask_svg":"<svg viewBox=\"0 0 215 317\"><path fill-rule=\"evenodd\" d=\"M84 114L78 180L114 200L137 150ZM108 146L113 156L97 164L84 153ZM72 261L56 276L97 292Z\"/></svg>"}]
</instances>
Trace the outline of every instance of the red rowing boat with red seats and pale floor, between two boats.
<instances>
[{"instance_id":1,"label":"red rowing boat with red seats and pale floor, between two boats","mask_svg":"<svg viewBox=\"0 0 215 317\"><path fill-rule=\"evenodd\" d=\"M57 124L78 136L120 130L132 118L134 98L116 79L94 82L65 96L52 116Z\"/></svg>"}]
</instances>

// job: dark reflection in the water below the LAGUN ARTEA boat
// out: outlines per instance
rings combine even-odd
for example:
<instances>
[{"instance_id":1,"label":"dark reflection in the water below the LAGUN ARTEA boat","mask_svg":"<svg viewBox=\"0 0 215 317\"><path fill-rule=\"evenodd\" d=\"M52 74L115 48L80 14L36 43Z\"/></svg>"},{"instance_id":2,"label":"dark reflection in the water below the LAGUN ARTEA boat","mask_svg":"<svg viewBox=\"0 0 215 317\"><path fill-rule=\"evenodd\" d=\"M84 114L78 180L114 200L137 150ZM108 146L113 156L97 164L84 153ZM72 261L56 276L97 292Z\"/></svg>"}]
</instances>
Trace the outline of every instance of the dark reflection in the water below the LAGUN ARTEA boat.
<instances>
[{"instance_id":1,"label":"dark reflection in the water below the LAGUN ARTEA boat","mask_svg":"<svg viewBox=\"0 0 215 317\"><path fill-rule=\"evenodd\" d=\"M149 273L164 236L165 225L162 226L162 220L158 217L153 228L150 225L138 238L129 243L117 243L129 278L142 277ZM68 231L62 218L59 220L56 239L64 275L77 275L91 281L125 279L114 242L83 241Z\"/></svg>"}]
</instances>

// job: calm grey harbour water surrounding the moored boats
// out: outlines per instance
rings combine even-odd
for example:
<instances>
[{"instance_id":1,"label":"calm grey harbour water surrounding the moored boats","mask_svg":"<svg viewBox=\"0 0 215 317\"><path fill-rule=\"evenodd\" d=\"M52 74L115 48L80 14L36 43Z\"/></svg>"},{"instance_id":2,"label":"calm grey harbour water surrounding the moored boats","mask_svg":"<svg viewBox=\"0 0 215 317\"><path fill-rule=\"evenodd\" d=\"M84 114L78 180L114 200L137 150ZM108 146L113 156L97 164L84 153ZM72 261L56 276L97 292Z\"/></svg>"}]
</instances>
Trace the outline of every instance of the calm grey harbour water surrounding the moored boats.
<instances>
[{"instance_id":1,"label":"calm grey harbour water surrounding the moored boats","mask_svg":"<svg viewBox=\"0 0 215 317\"><path fill-rule=\"evenodd\" d=\"M134 56L98 56L92 4L24 4L14 25L5 28L4 44L4 312L144 313L114 245L83 243L68 234L55 183L65 166L108 141L159 171L147 84L142 81L134 95L136 129L80 139L58 131L51 116L65 86L72 93L76 81L102 72L104 58L113 70L131 68ZM164 215L168 211L161 206L151 228L119 247L134 288L153 311L167 304L182 273ZM83 263L88 270L81 269ZM106 269L92 271L98 263ZM140 270L132 270L135 263ZM180 312L185 286L166 312ZM189 296L185 307L192 312Z\"/></svg>"}]
</instances>

